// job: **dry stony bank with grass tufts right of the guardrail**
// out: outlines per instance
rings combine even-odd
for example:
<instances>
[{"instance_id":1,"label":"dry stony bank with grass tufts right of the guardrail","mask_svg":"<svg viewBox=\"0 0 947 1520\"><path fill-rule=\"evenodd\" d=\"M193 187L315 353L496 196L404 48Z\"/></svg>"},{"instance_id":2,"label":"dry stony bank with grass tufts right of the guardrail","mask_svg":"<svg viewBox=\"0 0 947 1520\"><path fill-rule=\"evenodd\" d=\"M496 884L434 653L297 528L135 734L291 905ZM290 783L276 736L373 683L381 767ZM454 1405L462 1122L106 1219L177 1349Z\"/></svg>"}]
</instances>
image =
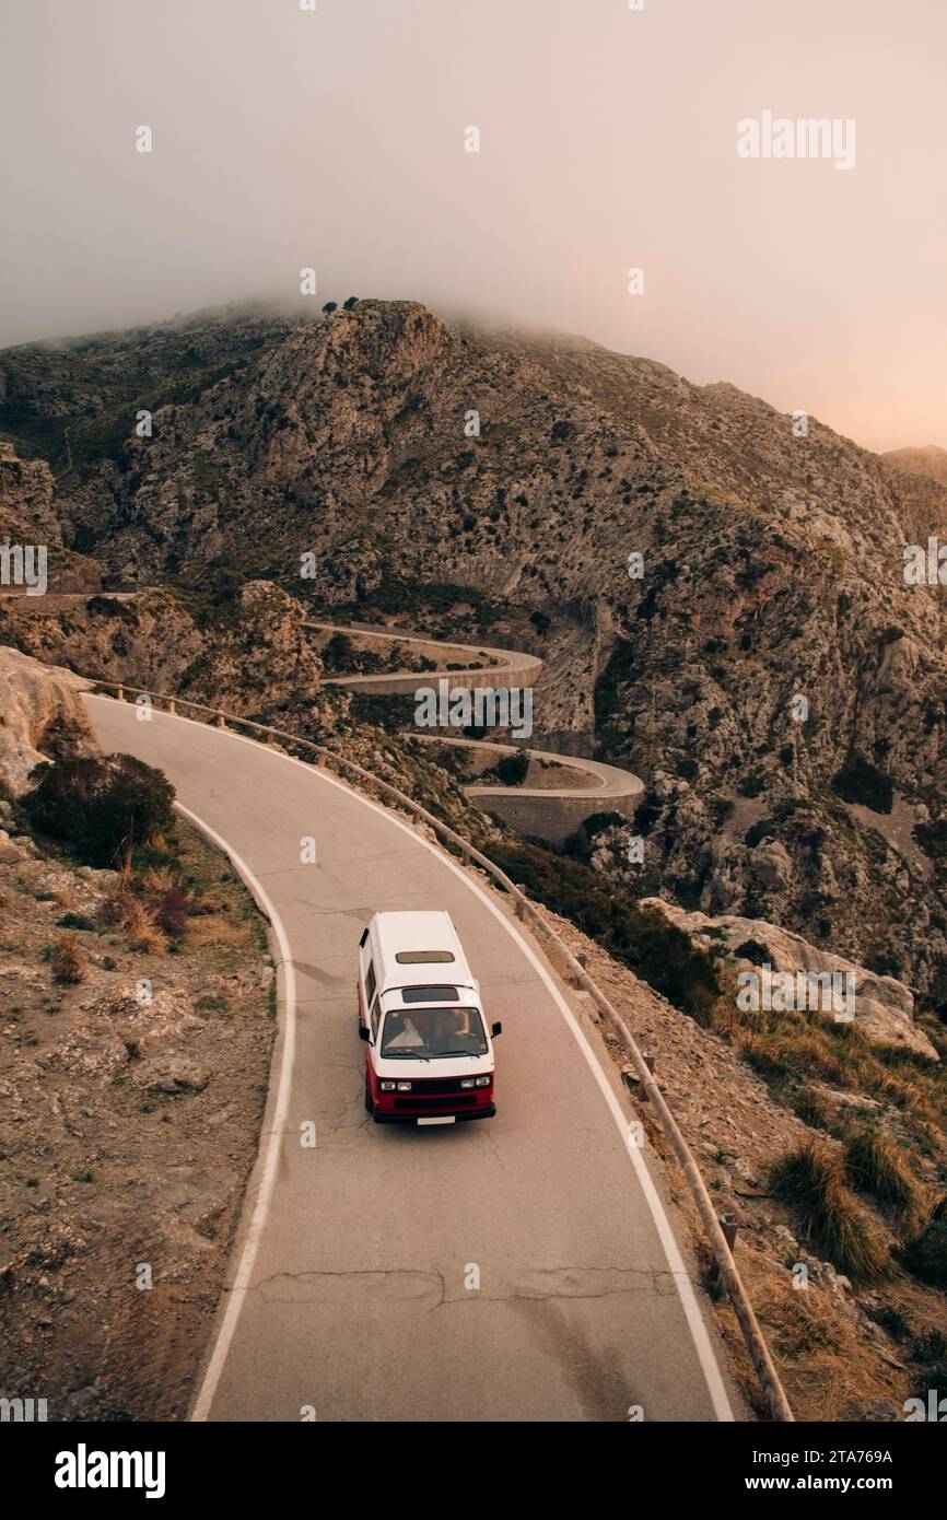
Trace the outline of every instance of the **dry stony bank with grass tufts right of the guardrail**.
<instances>
[{"instance_id":1,"label":"dry stony bank with grass tufts right of the guardrail","mask_svg":"<svg viewBox=\"0 0 947 1520\"><path fill-rule=\"evenodd\" d=\"M851 1088L819 1088L819 1113L830 1128L810 1128L812 1108L800 1102L793 1111L793 1088L765 1081L724 1023L702 1026L679 1012L569 920L550 917L654 1058L714 1207L739 1227L737 1265L797 1418L903 1420L907 1397L926 1400L927 1389L947 1388L947 1211L932 1207L936 1152L924 1158L907 1151L874 1102ZM597 1018L594 1009L590 1015ZM625 1052L607 1023L602 1032L623 1066ZM638 1114L692 1219L705 1286L748 1398L766 1418L736 1316L710 1272L687 1184L649 1105L638 1105Z\"/></svg>"}]
</instances>

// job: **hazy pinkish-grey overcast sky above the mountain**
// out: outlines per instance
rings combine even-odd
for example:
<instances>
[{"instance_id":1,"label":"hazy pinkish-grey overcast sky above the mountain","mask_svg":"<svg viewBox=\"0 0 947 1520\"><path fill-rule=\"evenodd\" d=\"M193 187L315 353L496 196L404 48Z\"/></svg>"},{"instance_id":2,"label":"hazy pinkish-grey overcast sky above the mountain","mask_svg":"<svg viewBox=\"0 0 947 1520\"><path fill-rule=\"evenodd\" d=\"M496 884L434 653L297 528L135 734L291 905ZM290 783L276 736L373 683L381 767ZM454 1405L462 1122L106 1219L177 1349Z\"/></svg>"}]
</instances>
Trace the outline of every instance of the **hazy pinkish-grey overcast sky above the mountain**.
<instances>
[{"instance_id":1,"label":"hazy pinkish-grey overcast sky above the mountain","mask_svg":"<svg viewBox=\"0 0 947 1520\"><path fill-rule=\"evenodd\" d=\"M313 266L947 447L944 0L302 3L0 0L0 344ZM740 158L765 111L854 167Z\"/></svg>"}]
</instances>

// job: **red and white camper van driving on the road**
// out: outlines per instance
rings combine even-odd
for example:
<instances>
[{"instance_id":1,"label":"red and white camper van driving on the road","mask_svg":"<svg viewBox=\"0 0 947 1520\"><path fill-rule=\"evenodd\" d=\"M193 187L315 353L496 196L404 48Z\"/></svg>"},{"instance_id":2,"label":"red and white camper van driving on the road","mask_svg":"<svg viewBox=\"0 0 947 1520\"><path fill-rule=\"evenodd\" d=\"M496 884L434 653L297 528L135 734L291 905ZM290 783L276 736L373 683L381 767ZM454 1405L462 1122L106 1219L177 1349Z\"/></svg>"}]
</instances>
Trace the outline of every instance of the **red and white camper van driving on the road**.
<instances>
[{"instance_id":1,"label":"red and white camper van driving on the road","mask_svg":"<svg viewBox=\"0 0 947 1520\"><path fill-rule=\"evenodd\" d=\"M375 1123L493 1119L500 1028L483 1021L450 914L374 915L359 941L359 1037Z\"/></svg>"}]
</instances>

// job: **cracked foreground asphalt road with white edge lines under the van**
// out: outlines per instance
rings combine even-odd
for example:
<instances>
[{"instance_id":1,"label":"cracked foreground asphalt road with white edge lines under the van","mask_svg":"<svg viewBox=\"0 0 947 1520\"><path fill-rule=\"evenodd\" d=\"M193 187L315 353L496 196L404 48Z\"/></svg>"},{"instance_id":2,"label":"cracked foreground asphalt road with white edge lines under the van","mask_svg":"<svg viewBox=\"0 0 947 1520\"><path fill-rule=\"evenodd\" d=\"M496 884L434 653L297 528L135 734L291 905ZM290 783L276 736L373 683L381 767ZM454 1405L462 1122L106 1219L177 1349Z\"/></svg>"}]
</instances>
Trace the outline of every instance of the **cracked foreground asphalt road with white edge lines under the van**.
<instances>
[{"instance_id":1,"label":"cracked foreground asphalt road with white edge lines under the van","mask_svg":"<svg viewBox=\"0 0 947 1520\"><path fill-rule=\"evenodd\" d=\"M87 702L103 748L161 766L255 872L289 962L261 1160L196 1417L742 1417L661 1184L625 1143L608 1058L500 898L331 777L181 717ZM299 865L307 834L318 865ZM388 1128L362 1108L356 945L375 909L404 907L451 912L503 1021L493 1120ZM299 1145L306 1120L315 1149Z\"/></svg>"}]
</instances>

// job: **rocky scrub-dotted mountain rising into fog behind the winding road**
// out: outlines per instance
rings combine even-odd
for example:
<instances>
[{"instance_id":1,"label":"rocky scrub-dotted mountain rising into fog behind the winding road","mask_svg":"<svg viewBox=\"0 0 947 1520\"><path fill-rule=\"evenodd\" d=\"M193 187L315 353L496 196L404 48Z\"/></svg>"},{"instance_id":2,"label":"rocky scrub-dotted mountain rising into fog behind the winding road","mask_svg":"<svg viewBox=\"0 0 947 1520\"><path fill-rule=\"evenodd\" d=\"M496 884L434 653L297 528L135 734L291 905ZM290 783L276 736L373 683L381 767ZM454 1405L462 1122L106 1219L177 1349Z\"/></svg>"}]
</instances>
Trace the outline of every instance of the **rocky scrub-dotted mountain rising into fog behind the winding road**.
<instances>
[{"instance_id":1,"label":"rocky scrub-dotted mountain rising into fog behind the winding road","mask_svg":"<svg viewBox=\"0 0 947 1520\"><path fill-rule=\"evenodd\" d=\"M531 648L532 742L648 781L645 863L614 851L616 882L947 1005L944 588L904 579L945 485L730 385L404 301L11 350L0 395L106 584L179 606L268 581ZM178 614L147 606L167 649ZM15 641L85 658L70 637ZM216 689L266 673L245 649Z\"/></svg>"}]
</instances>

